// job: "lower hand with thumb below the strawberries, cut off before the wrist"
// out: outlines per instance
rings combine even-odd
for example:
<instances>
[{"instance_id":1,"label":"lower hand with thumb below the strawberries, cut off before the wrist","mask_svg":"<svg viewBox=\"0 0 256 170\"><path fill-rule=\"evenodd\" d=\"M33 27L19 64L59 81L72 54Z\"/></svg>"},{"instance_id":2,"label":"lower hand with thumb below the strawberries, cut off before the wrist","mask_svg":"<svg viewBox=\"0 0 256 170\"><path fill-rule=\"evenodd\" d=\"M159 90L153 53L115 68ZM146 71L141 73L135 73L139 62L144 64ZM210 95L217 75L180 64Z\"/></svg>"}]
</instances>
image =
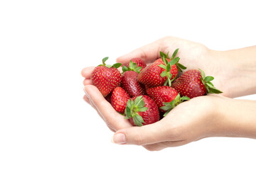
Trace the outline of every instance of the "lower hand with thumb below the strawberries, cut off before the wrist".
<instances>
[{"instance_id":1,"label":"lower hand with thumb below the strawberries, cut off before the wrist","mask_svg":"<svg viewBox=\"0 0 256 170\"><path fill-rule=\"evenodd\" d=\"M220 135L218 106L224 100L225 97L213 94L192 98L176 106L159 122L118 130L113 141L160 150Z\"/></svg>"}]
</instances>

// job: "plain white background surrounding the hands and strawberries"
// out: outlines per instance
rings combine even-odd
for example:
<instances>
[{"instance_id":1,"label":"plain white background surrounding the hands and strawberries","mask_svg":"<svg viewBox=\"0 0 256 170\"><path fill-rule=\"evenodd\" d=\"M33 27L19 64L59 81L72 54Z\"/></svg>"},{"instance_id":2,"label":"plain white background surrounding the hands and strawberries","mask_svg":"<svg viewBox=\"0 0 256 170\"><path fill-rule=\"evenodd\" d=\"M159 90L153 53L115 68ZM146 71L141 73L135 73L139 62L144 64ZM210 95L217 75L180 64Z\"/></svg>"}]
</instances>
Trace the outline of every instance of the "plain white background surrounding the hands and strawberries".
<instances>
[{"instance_id":1,"label":"plain white background surrounding the hands and strawberries","mask_svg":"<svg viewBox=\"0 0 256 170\"><path fill-rule=\"evenodd\" d=\"M1 1L0 169L255 169L252 139L159 152L112 144L80 76L166 35L213 50L255 45L254 2Z\"/></svg>"}]
</instances>

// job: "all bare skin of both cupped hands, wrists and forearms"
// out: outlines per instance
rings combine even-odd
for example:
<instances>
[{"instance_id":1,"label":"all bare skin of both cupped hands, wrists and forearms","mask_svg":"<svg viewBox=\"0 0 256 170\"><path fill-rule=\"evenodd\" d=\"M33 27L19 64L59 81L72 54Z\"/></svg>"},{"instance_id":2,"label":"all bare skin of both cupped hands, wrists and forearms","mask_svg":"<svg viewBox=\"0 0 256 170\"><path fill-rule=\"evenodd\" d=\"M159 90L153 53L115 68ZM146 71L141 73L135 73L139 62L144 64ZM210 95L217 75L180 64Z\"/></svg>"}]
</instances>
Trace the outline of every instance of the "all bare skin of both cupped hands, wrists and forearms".
<instances>
[{"instance_id":1,"label":"all bare skin of both cupped hands, wrists and forearms","mask_svg":"<svg viewBox=\"0 0 256 170\"><path fill-rule=\"evenodd\" d=\"M200 68L206 75L215 77L213 84L223 94L183 102L165 118L151 125L132 127L92 86L90 74L94 67L82 69L82 76L85 77L84 99L115 132L112 141L159 150L204 137L256 138L256 102L232 99L256 93L256 46L220 52L198 42L166 37L117 58L117 62L126 63L133 57L141 57L149 64L160 57L159 51L171 54L176 48L179 48L180 63L187 69Z\"/></svg>"}]
</instances>

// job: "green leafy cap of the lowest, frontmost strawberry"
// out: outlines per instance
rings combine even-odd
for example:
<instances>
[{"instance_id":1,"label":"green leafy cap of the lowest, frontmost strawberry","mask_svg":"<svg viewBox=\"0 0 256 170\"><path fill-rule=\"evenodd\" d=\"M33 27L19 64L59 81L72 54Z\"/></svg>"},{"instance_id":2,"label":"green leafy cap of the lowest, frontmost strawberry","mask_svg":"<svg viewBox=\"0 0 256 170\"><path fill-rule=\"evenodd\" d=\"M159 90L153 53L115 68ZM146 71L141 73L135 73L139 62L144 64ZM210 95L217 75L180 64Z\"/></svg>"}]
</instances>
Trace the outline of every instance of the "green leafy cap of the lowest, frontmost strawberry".
<instances>
[{"instance_id":1,"label":"green leafy cap of the lowest, frontmost strawberry","mask_svg":"<svg viewBox=\"0 0 256 170\"><path fill-rule=\"evenodd\" d=\"M125 119L132 118L134 121L134 125L142 126L142 123L144 123L144 120L141 115L138 114L138 112L144 112L148 108L144 107L145 103L143 101L142 96L139 96L135 98L133 101L132 99L129 99L127 101L127 107L125 108L124 115Z\"/></svg>"}]
</instances>

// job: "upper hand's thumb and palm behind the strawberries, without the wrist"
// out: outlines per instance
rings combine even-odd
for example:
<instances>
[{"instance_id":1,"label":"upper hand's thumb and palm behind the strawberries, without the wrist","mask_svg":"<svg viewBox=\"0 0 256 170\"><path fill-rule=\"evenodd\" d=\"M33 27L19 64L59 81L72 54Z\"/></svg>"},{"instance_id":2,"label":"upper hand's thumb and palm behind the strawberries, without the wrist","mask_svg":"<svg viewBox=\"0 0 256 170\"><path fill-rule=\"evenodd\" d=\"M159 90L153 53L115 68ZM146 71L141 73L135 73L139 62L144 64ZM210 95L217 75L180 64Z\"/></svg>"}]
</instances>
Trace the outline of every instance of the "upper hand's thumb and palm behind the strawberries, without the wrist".
<instances>
[{"instance_id":1,"label":"upper hand's thumb and palm behind the strawberries, without the wrist","mask_svg":"<svg viewBox=\"0 0 256 170\"><path fill-rule=\"evenodd\" d=\"M223 66L223 58L220 60L218 52L210 50L198 42L169 36L140 47L127 55L123 55L117 58L117 62L127 63L133 57L140 57L147 64L150 64L160 57L159 51L172 54L176 48L179 48L177 54L181 58L179 62L187 67L186 70L202 69L206 75L215 77L212 82L217 89L224 91L221 95L228 96L230 94L226 84L222 83L224 82L223 74L225 75L225 79L227 78L225 71L228 70L228 66ZM223 68L225 69L223 70Z\"/></svg>"}]
</instances>

